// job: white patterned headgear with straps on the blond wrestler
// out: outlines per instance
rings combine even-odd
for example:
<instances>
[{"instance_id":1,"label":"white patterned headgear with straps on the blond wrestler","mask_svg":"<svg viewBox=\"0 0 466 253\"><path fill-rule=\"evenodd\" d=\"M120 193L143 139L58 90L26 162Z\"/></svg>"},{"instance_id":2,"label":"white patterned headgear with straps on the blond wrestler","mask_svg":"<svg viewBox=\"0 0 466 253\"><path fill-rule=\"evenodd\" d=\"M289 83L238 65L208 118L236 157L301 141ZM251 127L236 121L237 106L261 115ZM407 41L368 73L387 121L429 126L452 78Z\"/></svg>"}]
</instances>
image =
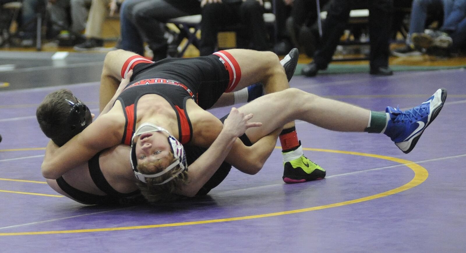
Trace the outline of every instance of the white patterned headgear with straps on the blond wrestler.
<instances>
[{"instance_id":1,"label":"white patterned headgear with straps on the blond wrestler","mask_svg":"<svg viewBox=\"0 0 466 253\"><path fill-rule=\"evenodd\" d=\"M165 132L168 133L168 143L170 144L171 147L171 152L173 153L173 157L176 159L175 162L173 162L171 165L166 167L163 171L155 174L143 174L137 171L137 157L136 157L136 138L137 136L143 134L143 133L150 133L150 132ZM171 171L174 167L179 165L181 167L181 170L172 175L170 178L164 180L161 183L158 183L156 185L163 185L164 183L169 182L170 180L173 180L178 176L178 174L182 173L185 170L188 170L188 165L186 162L186 154L185 154L185 148L183 145L175 138L173 135L170 134L167 130L160 126L156 126L152 123L143 123L141 124L137 129L136 132L133 135L133 138L131 139L131 153L130 153L130 161L131 161L131 167L134 171L134 174L136 175L136 178L142 182L146 182L145 178L156 178L159 176L162 176L163 174Z\"/></svg>"}]
</instances>

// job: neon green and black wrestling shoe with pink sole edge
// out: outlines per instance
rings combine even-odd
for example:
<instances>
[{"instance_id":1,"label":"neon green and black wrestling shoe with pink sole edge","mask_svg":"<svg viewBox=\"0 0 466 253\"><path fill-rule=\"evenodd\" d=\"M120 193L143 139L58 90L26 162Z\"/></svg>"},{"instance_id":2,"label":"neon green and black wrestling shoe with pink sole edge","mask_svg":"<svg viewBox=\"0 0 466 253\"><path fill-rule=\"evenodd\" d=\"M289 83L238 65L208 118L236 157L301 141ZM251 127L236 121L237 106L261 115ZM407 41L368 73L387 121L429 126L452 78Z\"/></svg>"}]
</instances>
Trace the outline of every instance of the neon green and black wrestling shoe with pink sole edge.
<instances>
[{"instance_id":1,"label":"neon green and black wrestling shoe with pink sole edge","mask_svg":"<svg viewBox=\"0 0 466 253\"><path fill-rule=\"evenodd\" d=\"M283 181L287 184L323 179L325 170L302 154L302 147L283 153Z\"/></svg>"}]
</instances>

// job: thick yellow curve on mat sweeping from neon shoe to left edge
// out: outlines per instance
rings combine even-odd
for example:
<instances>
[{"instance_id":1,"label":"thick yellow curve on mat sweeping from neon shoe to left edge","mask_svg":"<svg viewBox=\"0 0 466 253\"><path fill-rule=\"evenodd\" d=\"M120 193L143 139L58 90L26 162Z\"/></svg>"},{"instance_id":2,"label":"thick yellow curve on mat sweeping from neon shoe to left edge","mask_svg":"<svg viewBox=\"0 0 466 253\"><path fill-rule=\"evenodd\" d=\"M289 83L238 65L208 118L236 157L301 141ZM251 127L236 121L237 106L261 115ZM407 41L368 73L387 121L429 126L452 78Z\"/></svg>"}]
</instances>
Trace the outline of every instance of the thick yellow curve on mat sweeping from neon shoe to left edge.
<instances>
[{"instance_id":1,"label":"thick yellow curve on mat sweeping from neon shoe to left edge","mask_svg":"<svg viewBox=\"0 0 466 253\"><path fill-rule=\"evenodd\" d=\"M424 182L429 173L427 170L415 162L399 159L390 156L378 155L378 154L370 154L370 153L359 153L359 152L351 152L351 151L340 151L340 150L331 150L331 149L320 149L320 148L303 148L304 150L309 151L318 151L318 152L330 152L330 153L343 153L343 154L351 154L351 155L361 155L373 158L379 158L384 160L389 160L397 163L404 164L405 166L409 167L414 172L414 178L409 181L408 183L404 184L403 186L399 186L395 189L378 193L375 195L359 198L356 200L348 200L343 202L338 202L329 205L323 206L314 206L296 210L289 210L284 212L276 212L276 213L265 213L265 214L257 214L257 215L248 215L248 216L241 216L241 217L233 217L233 218L225 218L225 219L216 219L216 220L196 220L196 221L188 221L188 222L177 222L177 223L167 223L167 224L155 224L155 225L145 225L145 226L123 226L123 227L106 227L106 228L92 228L92 229L76 229L76 230L57 230L57 231L38 231L38 232L19 232L19 233L0 233L0 236L6 235L32 235L32 234L58 234L58 233L89 233L89 232L103 232L103 231L118 231L118 230L132 230L132 229L146 229L146 228L156 228L156 227L169 227L169 226L187 226L187 225L199 225L199 224L207 224L207 223L217 223L217 222L226 222L226 221L235 221L235 220L251 220L257 218L266 218L266 217L273 217L285 214L292 214L292 213L303 213L315 210L321 210L331 207L337 206L345 206L350 204L355 204L363 201L368 200L375 200L378 198L382 198L385 196L393 195L399 192L406 191L411 189L412 187L420 185Z\"/></svg>"}]
</instances>

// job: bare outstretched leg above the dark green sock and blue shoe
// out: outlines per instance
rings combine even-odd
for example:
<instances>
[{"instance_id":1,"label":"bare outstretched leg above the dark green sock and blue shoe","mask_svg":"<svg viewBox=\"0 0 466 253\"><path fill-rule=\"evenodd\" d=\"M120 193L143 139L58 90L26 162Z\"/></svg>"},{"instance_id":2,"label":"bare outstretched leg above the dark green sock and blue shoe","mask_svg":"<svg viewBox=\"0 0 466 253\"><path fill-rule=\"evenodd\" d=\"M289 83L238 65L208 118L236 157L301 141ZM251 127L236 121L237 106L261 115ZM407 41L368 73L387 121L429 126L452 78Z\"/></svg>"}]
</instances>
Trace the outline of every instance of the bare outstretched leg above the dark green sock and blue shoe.
<instances>
[{"instance_id":1,"label":"bare outstretched leg above the dark green sock and blue shoe","mask_svg":"<svg viewBox=\"0 0 466 253\"><path fill-rule=\"evenodd\" d=\"M238 109L242 113L253 113L254 121L262 122L262 126L246 131L253 143L292 120L303 120L334 131L363 132L370 115L367 109L295 88L264 95Z\"/></svg>"}]
</instances>

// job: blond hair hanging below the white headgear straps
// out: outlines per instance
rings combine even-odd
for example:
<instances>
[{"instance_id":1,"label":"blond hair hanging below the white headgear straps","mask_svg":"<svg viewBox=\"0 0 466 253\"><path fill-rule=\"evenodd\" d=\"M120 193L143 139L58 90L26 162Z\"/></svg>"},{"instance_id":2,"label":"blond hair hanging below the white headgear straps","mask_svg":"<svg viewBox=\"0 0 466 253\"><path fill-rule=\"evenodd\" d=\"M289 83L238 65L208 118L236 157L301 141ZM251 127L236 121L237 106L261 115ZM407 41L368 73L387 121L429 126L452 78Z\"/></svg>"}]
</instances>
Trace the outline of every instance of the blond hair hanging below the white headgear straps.
<instances>
[{"instance_id":1,"label":"blond hair hanging below the white headgear straps","mask_svg":"<svg viewBox=\"0 0 466 253\"><path fill-rule=\"evenodd\" d=\"M163 171L166 167L168 167L173 162L177 161L173 157L173 153L170 153L168 159L160 159L154 162L145 162L141 163L137 166L137 170L143 174L154 174ZM141 190L144 198L149 201L149 203L154 203L158 201L167 201L167 200L174 200L178 199L177 195L173 192L175 191L176 187L182 184L188 183L188 173L187 170L179 173L175 178L172 180L158 185L163 181L173 177L176 175L182 168L177 165L169 172L156 177L156 178L145 178L146 183L137 182L137 186Z\"/></svg>"}]
</instances>

